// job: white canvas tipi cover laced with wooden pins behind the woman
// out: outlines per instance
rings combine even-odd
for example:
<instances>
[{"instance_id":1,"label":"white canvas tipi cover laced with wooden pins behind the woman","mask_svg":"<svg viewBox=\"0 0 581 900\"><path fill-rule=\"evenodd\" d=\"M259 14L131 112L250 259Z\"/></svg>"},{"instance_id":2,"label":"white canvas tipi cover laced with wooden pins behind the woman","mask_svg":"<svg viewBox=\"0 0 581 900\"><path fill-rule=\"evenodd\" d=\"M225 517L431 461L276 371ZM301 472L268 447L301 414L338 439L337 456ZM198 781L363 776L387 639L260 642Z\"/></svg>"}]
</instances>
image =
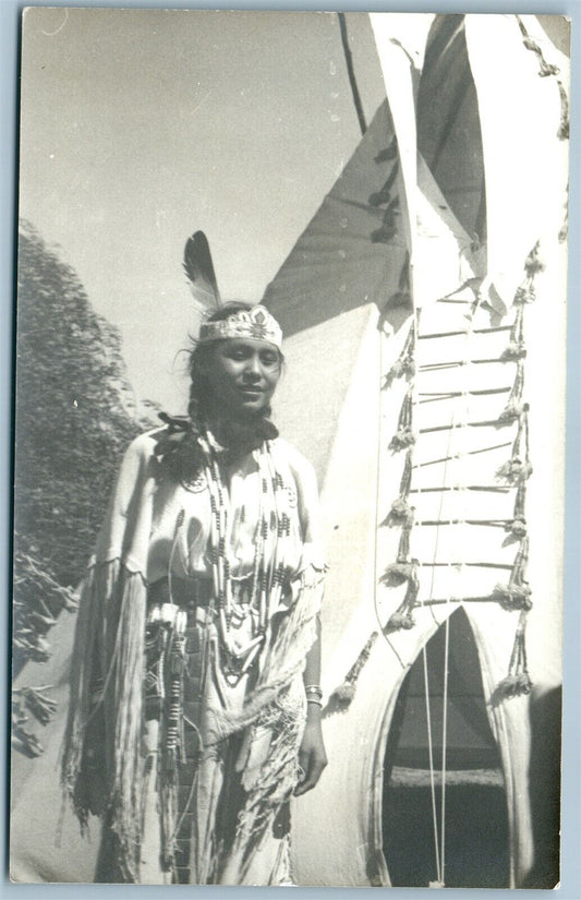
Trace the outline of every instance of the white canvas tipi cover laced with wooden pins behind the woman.
<instances>
[{"instance_id":1,"label":"white canvas tipi cover laced with wooden pins behind the woman","mask_svg":"<svg viewBox=\"0 0 581 900\"><path fill-rule=\"evenodd\" d=\"M398 691L461 607L501 758L509 884L542 886L557 880L541 872L533 820L550 802L536 740L561 671L567 64L533 17L456 17L482 132L481 247L415 165L423 52L390 33L391 15L372 19L395 128L379 110L266 293L291 335L278 419L316 463L329 562L330 763L295 803L294 876L389 884L383 777ZM450 115L446 92L433 101ZM435 831L445 884L445 817Z\"/></svg>"}]
</instances>

